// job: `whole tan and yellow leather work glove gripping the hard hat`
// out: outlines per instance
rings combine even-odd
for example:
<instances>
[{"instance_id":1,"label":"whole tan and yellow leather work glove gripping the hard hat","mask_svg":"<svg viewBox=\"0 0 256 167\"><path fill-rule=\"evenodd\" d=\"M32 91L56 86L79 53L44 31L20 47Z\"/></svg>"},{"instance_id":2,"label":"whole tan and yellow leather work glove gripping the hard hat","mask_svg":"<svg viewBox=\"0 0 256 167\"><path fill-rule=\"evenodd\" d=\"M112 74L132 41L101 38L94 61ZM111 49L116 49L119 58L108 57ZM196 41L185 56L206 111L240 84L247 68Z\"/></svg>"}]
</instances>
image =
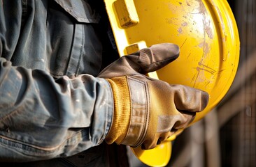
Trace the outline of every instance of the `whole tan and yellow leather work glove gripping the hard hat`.
<instances>
[{"instance_id":1,"label":"whole tan and yellow leather work glove gripping the hard hat","mask_svg":"<svg viewBox=\"0 0 256 167\"><path fill-rule=\"evenodd\" d=\"M111 84L114 113L106 143L151 149L208 104L208 93L145 76L178 58L177 45L163 43L122 56L98 77Z\"/></svg>"}]
</instances>

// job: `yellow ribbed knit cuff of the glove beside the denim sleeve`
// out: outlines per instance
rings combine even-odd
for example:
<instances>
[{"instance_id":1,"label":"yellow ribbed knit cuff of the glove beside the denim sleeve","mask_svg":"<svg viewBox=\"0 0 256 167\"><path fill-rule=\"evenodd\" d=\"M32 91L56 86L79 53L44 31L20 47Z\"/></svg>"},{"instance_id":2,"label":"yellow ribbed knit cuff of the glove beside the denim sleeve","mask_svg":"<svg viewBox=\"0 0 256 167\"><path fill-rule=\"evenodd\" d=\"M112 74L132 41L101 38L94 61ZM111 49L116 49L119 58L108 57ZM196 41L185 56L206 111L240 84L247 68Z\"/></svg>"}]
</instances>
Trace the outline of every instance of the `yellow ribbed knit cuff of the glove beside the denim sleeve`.
<instances>
[{"instance_id":1,"label":"yellow ribbed knit cuff of the glove beside the denim sleeve","mask_svg":"<svg viewBox=\"0 0 256 167\"><path fill-rule=\"evenodd\" d=\"M127 136L131 120L131 96L129 94L129 86L127 77L115 77L106 79L113 90L114 97L114 113L111 124L105 141L108 144L113 142L122 143Z\"/></svg>"}]
</instances>

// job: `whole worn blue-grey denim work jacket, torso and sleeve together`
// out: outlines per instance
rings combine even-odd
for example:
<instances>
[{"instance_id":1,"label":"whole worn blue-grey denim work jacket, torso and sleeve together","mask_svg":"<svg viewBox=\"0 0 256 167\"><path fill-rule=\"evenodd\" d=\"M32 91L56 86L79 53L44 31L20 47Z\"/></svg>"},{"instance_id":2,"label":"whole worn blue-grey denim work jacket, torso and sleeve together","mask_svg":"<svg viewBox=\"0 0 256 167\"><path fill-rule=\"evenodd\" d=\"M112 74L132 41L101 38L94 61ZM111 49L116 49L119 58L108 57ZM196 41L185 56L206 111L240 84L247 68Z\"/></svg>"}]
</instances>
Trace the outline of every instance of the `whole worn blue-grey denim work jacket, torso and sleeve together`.
<instances>
[{"instance_id":1,"label":"whole worn blue-grey denim work jacket, torso and sleeve together","mask_svg":"<svg viewBox=\"0 0 256 167\"><path fill-rule=\"evenodd\" d=\"M83 0L0 1L0 161L69 157L104 141L113 97Z\"/></svg>"}]
</instances>

